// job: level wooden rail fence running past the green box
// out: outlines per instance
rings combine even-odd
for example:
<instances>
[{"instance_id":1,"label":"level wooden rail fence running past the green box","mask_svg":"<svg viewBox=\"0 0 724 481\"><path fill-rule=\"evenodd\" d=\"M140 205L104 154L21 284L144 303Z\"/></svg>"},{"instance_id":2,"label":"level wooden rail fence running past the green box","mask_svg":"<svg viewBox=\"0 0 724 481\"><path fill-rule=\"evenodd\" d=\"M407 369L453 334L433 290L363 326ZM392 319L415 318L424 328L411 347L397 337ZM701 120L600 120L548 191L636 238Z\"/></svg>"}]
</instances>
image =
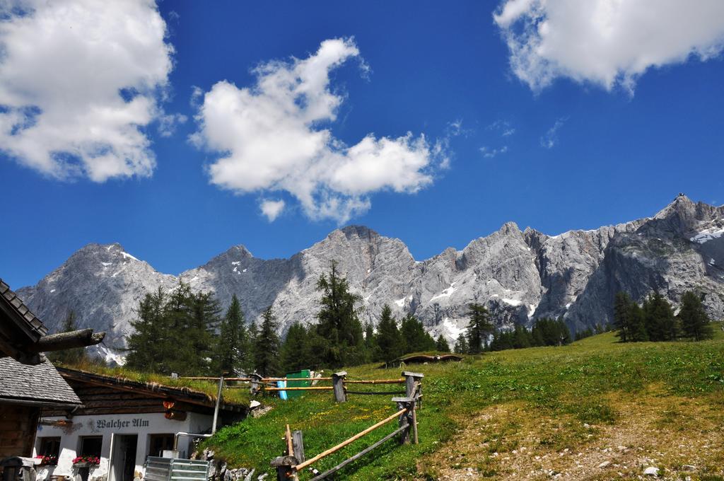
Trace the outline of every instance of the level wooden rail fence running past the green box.
<instances>
[{"instance_id":1,"label":"level wooden rail fence running past the green box","mask_svg":"<svg viewBox=\"0 0 724 481\"><path fill-rule=\"evenodd\" d=\"M397 378L397 379L376 379L376 380L348 380L347 379L347 372L341 371L341 372L335 372L332 377L261 377L261 375L253 374L249 377L205 377L205 376L196 376L196 377L182 377L182 379L191 379L191 380L213 380L217 381L221 384L224 384L226 382L242 382L244 384L248 384L248 389L251 392L252 395L256 396L258 394L265 394L265 393L278 393L279 391L310 391L310 392L319 392L319 391L332 391L334 393L334 401L337 401L338 403L343 403L347 401L347 395L353 394L353 395L360 395L360 396L369 396L369 395L383 395L383 396L389 396L389 395L395 395L395 394L402 394L402 391L367 391L367 390L348 390L348 385L388 385L388 384L404 384L405 385L405 395L411 396L411 393L413 392L413 386L415 385L415 382L420 383L422 378L421 374L418 374L416 372L409 372L405 371L403 372L403 377ZM279 388L277 387L278 381L291 381L291 382L299 382L299 381L312 381L312 382L332 382L331 386L299 386L299 387L291 387L291 388ZM227 388L246 388L245 385L226 385ZM420 387L421 390L421 387Z\"/></svg>"}]
</instances>

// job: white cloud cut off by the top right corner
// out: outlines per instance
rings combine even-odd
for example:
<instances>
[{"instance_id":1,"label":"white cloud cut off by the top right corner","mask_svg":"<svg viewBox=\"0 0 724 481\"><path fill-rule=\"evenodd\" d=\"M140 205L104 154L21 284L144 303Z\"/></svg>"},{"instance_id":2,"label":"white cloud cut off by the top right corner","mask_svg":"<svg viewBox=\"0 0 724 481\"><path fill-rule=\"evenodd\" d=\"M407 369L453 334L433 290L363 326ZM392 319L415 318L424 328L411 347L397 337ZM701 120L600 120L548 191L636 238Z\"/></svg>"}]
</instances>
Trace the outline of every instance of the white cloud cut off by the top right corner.
<instances>
[{"instance_id":1,"label":"white cloud cut off by the top right corner","mask_svg":"<svg viewBox=\"0 0 724 481\"><path fill-rule=\"evenodd\" d=\"M724 47L721 0L506 0L493 17L513 72L534 91L568 77L633 93L649 68Z\"/></svg>"}]
</instances>

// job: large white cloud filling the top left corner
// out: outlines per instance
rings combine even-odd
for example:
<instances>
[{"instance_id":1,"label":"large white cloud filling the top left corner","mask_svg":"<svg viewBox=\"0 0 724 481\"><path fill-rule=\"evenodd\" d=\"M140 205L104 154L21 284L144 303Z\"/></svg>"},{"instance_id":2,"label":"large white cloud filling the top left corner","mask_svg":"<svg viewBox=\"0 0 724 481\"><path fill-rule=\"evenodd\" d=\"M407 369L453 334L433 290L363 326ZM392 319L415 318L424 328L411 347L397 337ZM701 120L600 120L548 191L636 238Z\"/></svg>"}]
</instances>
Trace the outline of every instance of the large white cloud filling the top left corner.
<instances>
[{"instance_id":1,"label":"large white cloud filling the top left corner","mask_svg":"<svg viewBox=\"0 0 724 481\"><path fill-rule=\"evenodd\" d=\"M0 2L0 149L53 177L151 175L172 70L152 0Z\"/></svg>"}]
</instances>

